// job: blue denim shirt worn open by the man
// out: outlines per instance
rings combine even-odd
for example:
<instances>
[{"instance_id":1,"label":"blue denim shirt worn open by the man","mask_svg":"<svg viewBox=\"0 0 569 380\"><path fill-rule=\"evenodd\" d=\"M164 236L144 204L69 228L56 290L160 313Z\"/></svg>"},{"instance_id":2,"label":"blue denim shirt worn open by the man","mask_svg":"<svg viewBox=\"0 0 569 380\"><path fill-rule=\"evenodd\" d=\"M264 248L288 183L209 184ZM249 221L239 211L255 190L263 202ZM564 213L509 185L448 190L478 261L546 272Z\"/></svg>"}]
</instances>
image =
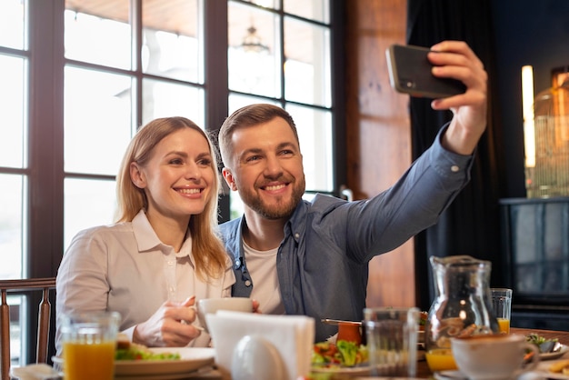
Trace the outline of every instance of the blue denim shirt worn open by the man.
<instances>
[{"instance_id":1,"label":"blue denim shirt worn open by the man","mask_svg":"<svg viewBox=\"0 0 569 380\"><path fill-rule=\"evenodd\" d=\"M315 342L337 332L321 318L363 319L369 261L434 225L470 180L474 156L444 150L440 135L383 193L354 202L316 195L284 225L276 258L284 309L316 319ZM234 296L249 296L254 286L241 238L245 223L244 215L220 225L234 262Z\"/></svg>"}]
</instances>

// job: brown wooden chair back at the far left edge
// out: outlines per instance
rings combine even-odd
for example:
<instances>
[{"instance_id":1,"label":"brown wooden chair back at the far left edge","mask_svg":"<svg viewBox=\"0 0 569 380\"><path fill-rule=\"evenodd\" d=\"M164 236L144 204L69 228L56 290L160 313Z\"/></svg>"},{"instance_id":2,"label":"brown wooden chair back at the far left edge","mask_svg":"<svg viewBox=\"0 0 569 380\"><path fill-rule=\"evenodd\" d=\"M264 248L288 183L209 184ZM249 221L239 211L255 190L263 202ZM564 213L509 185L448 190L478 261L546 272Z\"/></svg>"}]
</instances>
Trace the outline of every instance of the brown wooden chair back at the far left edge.
<instances>
[{"instance_id":1,"label":"brown wooden chair back at the far left edge","mask_svg":"<svg viewBox=\"0 0 569 380\"><path fill-rule=\"evenodd\" d=\"M51 304L49 302L51 289L55 289L55 277L0 281L0 293L2 295L2 303L0 304L0 354L2 356L0 378L2 380L10 379L10 305L6 301L7 294L24 294L38 290L43 292L37 319L37 345L35 349L36 362L46 363L51 317Z\"/></svg>"}]
</instances>

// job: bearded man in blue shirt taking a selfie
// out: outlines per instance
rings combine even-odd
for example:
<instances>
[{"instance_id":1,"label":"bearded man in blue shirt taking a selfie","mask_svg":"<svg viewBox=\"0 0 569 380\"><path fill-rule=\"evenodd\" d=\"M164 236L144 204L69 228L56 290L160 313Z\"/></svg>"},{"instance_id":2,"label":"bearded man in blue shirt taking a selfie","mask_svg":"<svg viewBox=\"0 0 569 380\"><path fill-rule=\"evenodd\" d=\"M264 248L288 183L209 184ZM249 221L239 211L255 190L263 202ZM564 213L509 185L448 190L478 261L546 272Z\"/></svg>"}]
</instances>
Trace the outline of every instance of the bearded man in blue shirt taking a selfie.
<instances>
[{"instance_id":1,"label":"bearded man in blue shirt taking a selfie","mask_svg":"<svg viewBox=\"0 0 569 380\"><path fill-rule=\"evenodd\" d=\"M267 314L313 316L316 341L336 332L321 318L362 319L369 261L436 223L470 179L484 133L484 65L464 42L432 49L433 74L462 81L466 92L433 101L435 110L451 109L453 120L394 186L369 200L302 199L298 135L282 108L248 105L225 120L223 175L245 203L245 215L221 225L234 296L255 298Z\"/></svg>"}]
</instances>

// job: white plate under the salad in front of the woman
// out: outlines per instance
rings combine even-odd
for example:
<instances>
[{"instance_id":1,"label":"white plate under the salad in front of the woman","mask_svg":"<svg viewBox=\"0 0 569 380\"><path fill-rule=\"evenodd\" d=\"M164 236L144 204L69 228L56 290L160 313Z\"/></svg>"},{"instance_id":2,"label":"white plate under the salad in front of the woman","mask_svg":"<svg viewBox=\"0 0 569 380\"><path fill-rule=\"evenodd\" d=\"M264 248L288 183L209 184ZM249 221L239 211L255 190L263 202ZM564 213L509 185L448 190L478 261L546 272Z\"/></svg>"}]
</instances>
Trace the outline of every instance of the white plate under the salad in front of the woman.
<instances>
[{"instance_id":1,"label":"white plate under the salad in front of the woman","mask_svg":"<svg viewBox=\"0 0 569 380\"><path fill-rule=\"evenodd\" d=\"M215 359L214 348L156 347L150 350L156 354L179 353L181 358L180 360L119 360L115 362L115 378L137 376L148 379L153 375L188 375L205 365L213 365Z\"/></svg>"}]
</instances>

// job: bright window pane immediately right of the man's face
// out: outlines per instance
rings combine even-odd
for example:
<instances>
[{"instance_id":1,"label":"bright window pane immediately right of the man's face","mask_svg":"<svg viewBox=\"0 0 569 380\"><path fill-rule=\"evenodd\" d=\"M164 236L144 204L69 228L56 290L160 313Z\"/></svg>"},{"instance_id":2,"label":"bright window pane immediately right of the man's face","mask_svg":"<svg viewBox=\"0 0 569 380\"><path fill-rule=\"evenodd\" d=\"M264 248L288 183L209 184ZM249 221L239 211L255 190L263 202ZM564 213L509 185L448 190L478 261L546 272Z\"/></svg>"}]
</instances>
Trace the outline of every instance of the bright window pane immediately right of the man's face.
<instances>
[{"instance_id":1,"label":"bright window pane immediately right of the man's face","mask_svg":"<svg viewBox=\"0 0 569 380\"><path fill-rule=\"evenodd\" d=\"M303 153L306 190L334 190L332 113L300 105L286 105L294 119Z\"/></svg>"}]
</instances>

